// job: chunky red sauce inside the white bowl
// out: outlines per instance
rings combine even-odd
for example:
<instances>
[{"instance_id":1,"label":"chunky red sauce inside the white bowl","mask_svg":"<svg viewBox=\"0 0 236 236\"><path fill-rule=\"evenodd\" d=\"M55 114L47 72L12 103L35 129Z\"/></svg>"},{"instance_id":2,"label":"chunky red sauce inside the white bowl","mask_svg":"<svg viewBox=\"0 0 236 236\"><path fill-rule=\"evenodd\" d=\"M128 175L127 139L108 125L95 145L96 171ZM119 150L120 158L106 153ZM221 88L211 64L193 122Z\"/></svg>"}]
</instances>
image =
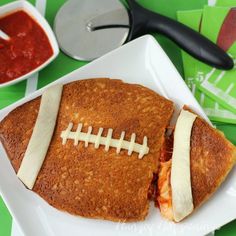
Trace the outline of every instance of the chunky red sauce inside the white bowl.
<instances>
[{"instance_id":1,"label":"chunky red sauce inside the white bowl","mask_svg":"<svg viewBox=\"0 0 236 236\"><path fill-rule=\"evenodd\" d=\"M0 38L0 84L27 74L53 54L44 30L23 10L0 18L0 29L10 36Z\"/></svg>"}]
</instances>

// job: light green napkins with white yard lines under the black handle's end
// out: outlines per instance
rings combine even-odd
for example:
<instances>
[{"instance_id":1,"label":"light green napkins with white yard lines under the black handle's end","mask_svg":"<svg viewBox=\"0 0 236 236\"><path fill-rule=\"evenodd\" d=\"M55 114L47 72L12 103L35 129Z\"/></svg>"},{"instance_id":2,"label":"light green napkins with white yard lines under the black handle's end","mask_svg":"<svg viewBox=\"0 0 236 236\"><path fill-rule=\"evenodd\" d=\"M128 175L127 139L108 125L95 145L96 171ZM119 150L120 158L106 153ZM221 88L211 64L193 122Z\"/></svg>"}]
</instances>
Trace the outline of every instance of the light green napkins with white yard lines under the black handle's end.
<instances>
[{"instance_id":1,"label":"light green napkins with white yard lines under the black handle's end","mask_svg":"<svg viewBox=\"0 0 236 236\"><path fill-rule=\"evenodd\" d=\"M222 39L223 34L220 32L229 12L230 7L206 6L203 10L201 33L213 42L217 42L219 37ZM235 28L232 30L235 30ZM227 35L229 35L229 32ZM235 60L236 44L232 44L227 49L227 52ZM219 104L236 114L236 69L230 71L216 70L200 62L196 63L196 67L198 68L195 77L196 86Z\"/></svg>"}]
</instances>

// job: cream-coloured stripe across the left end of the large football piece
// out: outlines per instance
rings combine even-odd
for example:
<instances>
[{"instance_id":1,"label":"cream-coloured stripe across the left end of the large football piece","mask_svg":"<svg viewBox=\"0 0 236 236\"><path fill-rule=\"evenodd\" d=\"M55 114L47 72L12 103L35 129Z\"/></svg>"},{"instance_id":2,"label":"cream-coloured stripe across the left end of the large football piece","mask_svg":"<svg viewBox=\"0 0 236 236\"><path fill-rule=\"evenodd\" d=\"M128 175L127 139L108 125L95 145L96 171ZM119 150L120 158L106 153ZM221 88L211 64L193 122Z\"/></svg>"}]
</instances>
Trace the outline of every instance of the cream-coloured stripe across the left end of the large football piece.
<instances>
[{"instance_id":1,"label":"cream-coloured stripe across the left end of the large football piece","mask_svg":"<svg viewBox=\"0 0 236 236\"><path fill-rule=\"evenodd\" d=\"M17 173L18 178L29 189L34 187L52 139L60 107L62 88L62 84L54 85L48 88L41 98L33 133Z\"/></svg>"}]
</instances>

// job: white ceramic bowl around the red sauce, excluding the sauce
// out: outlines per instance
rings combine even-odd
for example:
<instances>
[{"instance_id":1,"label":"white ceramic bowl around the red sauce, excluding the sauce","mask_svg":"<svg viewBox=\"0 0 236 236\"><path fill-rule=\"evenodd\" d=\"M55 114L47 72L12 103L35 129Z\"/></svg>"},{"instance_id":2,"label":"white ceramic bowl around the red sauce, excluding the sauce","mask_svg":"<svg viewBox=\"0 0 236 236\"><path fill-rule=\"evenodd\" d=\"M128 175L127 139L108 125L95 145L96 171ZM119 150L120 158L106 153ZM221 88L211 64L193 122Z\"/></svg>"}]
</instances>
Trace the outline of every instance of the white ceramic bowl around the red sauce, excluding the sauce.
<instances>
[{"instance_id":1,"label":"white ceramic bowl around the red sauce, excluding the sauce","mask_svg":"<svg viewBox=\"0 0 236 236\"><path fill-rule=\"evenodd\" d=\"M39 67L35 68L34 70L30 71L29 73L24 74L12 81L0 84L0 88L18 83L18 82L30 77L32 74L40 71L45 66L47 66L50 62L52 62L57 57L57 55L59 53L59 47L57 44L57 40L56 40L56 37L55 37L50 25L45 20L45 18L39 13L39 11L33 5L31 5L28 1L15 1L15 2L1 6L0 7L0 18L7 15L7 14L10 14L11 12L17 11L17 10L26 11L41 26L41 28L44 30L44 32L46 33L46 35L48 37L48 40L49 40L52 50L53 50L53 54L50 58L48 58Z\"/></svg>"}]
</instances>

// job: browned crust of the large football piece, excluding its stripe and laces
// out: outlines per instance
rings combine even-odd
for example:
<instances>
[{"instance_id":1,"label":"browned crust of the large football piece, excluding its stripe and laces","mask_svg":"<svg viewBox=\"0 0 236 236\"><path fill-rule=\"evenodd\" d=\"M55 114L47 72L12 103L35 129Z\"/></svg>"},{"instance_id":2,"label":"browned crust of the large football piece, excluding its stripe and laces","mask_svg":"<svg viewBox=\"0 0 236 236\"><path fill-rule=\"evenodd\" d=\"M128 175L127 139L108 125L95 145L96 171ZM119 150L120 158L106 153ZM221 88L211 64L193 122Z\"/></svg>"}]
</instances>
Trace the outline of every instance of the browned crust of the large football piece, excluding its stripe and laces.
<instances>
[{"instance_id":1,"label":"browned crust of the large football piece, excluding its stripe and laces","mask_svg":"<svg viewBox=\"0 0 236 236\"><path fill-rule=\"evenodd\" d=\"M37 117L40 98L12 111L0 123L0 139L17 172ZM49 111L50 112L50 111ZM173 103L140 85L119 80L90 79L64 86L54 135L33 191L52 206L71 214L113 221L143 220L148 213L148 189L157 172L165 128ZM119 138L134 132L137 142L148 137L150 153L142 160L126 151L117 155L104 147L84 148L67 141L60 133L69 122L114 129ZM76 126L74 127L76 129Z\"/></svg>"}]
</instances>

